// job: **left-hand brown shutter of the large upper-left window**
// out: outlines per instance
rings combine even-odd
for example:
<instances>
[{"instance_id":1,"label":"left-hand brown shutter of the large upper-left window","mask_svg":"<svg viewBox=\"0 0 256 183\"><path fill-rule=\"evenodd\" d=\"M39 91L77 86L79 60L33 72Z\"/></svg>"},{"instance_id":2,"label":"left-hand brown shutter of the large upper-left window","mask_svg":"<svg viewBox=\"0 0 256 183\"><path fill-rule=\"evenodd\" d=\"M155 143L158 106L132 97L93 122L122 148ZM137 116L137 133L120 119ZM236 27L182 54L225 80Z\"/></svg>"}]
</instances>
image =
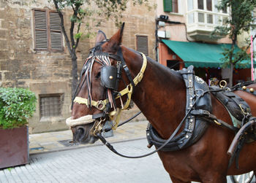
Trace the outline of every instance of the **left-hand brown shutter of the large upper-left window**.
<instances>
[{"instance_id":1,"label":"left-hand brown shutter of the large upper-left window","mask_svg":"<svg viewBox=\"0 0 256 183\"><path fill-rule=\"evenodd\" d=\"M47 34L47 16L46 11L34 10L34 34L35 48L37 50L48 49L48 34Z\"/></svg>"}]
</instances>

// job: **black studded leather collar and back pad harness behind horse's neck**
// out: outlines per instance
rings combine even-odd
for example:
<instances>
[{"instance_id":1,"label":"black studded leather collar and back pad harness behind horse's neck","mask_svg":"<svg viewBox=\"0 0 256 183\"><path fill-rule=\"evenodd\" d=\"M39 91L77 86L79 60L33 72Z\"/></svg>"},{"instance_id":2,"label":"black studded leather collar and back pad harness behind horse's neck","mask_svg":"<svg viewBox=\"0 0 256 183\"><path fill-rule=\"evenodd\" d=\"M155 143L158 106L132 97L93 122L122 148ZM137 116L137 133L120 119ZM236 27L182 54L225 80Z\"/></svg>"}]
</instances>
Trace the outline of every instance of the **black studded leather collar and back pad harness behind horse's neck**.
<instances>
[{"instance_id":1,"label":"black studded leather collar and back pad harness behind horse's neck","mask_svg":"<svg viewBox=\"0 0 256 183\"><path fill-rule=\"evenodd\" d=\"M188 117L181 133L169 141L165 148L162 149L163 151L176 151L195 144L195 142L203 136L209 123L229 128L237 133L239 130L238 127L249 122L251 119L252 114L249 105L246 104L246 101L242 98L231 92L230 89L224 87L209 88L203 79L195 76L193 66L189 66L187 69L182 69L177 72L181 74L187 87L186 114ZM200 93L206 94L200 95ZM229 125L227 122L217 119L214 114L211 114L212 106L210 93L213 93L225 106L232 119L236 118L236 120L233 121L236 121L237 125ZM148 124L146 134L149 144L148 147L154 145L158 148L166 141L159 136L150 123Z\"/></svg>"}]
</instances>

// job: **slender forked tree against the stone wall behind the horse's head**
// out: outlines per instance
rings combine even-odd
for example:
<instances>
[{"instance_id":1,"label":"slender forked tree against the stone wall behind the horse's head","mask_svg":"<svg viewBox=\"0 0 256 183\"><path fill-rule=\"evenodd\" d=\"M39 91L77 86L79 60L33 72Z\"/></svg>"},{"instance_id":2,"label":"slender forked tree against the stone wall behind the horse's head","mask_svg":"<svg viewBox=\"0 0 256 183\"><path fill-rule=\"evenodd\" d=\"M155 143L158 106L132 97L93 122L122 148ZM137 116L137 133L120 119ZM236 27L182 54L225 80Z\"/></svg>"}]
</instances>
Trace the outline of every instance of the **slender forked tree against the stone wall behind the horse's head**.
<instances>
[{"instance_id":1,"label":"slender forked tree against the stone wall behind the horse's head","mask_svg":"<svg viewBox=\"0 0 256 183\"><path fill-rule=\"evenodd\" d=\"M93 17L110 18L113 17L116 26L121 25L119 18L121 12L127 9L128 0L49 0L53 1L54 6L59 13L61 19L61 31L64 34L64 39L67 44L67 50L72 60L72 96L75 94L75 89L78 85L78 63L76 49L82 36L90 37L89 18L97 21L97 26L100 25L101 20ZM149 8L148 0L131 0L133 5L146 4ZM95 8L96 7L96 8ZM63 10L65 8L72 9L72 17L70 18L69 36L64 27ZM87 19L86 19L87 17ZM86 20L85 20L86 19ZM81 31L82 24L85 25L87 32Z\"/></svg>"}]
</instances>

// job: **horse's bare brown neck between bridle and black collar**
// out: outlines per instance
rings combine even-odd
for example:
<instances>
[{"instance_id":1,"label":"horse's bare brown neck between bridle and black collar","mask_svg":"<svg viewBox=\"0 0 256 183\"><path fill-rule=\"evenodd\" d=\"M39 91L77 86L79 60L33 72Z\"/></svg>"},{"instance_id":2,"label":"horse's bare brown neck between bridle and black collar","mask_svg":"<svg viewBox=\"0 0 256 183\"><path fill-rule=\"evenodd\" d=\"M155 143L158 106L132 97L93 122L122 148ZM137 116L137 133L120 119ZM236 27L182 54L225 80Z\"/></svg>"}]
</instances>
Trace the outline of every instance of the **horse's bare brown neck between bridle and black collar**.
<instances>
[{"instance_id":1,"label":"horse's bare brown neck between bridle and black collar","mask_svg":"<svg viewBox=\"0 0 256 183\"><path fill-rule=\"evenodd\" d=\"M140 62L142 65L141 59ZM184 117L185 98L181 76L148 58L144 77L135 87L132 100L163 138L167 139Z\"/></svg>"}]
</instances>

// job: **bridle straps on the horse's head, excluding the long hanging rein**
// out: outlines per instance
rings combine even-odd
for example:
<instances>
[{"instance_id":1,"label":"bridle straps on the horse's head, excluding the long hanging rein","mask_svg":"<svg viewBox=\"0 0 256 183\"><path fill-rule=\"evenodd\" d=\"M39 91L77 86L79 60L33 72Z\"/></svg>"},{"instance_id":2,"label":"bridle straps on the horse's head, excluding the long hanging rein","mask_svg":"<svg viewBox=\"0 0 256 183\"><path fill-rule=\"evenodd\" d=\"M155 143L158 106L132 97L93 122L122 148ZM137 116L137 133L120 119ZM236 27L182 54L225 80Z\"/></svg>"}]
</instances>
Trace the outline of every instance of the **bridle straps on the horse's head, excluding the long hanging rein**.
<instances>
[{"instance_id":1,"label":"bridle straps on the horse's head, excluding the long hanging rein","mask_svg":"<svg viewBox=\"0 0 256 183\"><path fill-rule=\"evenodd\" d=\"M102 42L102 44L103 43L104 42ZM69 127L74 127L77 125L86 125L91 122L95 122L94 127L91 128L91 134L93 134L94 136L97 136L97 133L99 133L99 131L102 130L102 122L106 120L106 117L109 117L110 120L115 121L113 129L116 129L119 122L121 111L124 109L128 109L132 98L132 91L134 87L138 85L138 83L143 78L143 73L146 70L147 64L146 56L143 53L140 53L143 57L143 66L141 67L138 75L134 79L132 79L127 64L124 61L123 54L121 52L121 47L119 48L117 55L114 55L108 52L102 52L102 44L99 44L97 47L94 47L89 53L89 57L86 59L80 74L80 84L78 85L75 91L75 95L72 101L72 106L73 103L86 104L86 106L89 108L94 106L95 108L102 111L102 113L86 115L75 120L72 120L71 117L69 117L66 120L66 123ZM110 58L117 61L116 66L111 66ZM101 85L106 89L107 98L101 101L94 101L91 97L91 71L94 63L99 63L102 65L100 72ZM127 87L124 88L124 90L118 92L118 83L122 79L122 69L124 69L130 83L129 85L127 85ZM85 74L86 76L82 80L83 74ZM88 88L88 98L82 98L77 96L84 83L86 83ZM121 97L125 95L127 95L127 101L125 102L125 104L123 104L123 102L121 101ZM120 98L121 101L121 109L116 107L116 99L118 98ZM113 111L110 112L110 109L113 109Z\"/></svg>"}]
</instances>

